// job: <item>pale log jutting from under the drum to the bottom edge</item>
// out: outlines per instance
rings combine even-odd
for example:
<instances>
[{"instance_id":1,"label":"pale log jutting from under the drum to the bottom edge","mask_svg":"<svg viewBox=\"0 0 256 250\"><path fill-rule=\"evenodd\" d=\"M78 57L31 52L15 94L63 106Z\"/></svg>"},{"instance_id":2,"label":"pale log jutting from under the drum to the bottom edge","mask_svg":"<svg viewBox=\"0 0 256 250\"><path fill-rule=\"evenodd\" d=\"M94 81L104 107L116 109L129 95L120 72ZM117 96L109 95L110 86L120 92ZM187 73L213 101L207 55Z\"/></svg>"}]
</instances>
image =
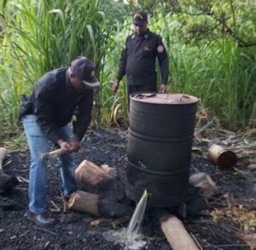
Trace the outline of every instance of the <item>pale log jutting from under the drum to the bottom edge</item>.
<instances>
[{"instance_id":1,"label":"pale log jutting from under the drum to the bottom edge","mask_svg":"<svg viewBox=\"0 0 256 250\"><path fill-rule=\"evenodd\" d=\"M161 230L166 235L167 241L173 250L198 250L183 223L174 215L161 219Z\"/></svg>"}]
</instances>

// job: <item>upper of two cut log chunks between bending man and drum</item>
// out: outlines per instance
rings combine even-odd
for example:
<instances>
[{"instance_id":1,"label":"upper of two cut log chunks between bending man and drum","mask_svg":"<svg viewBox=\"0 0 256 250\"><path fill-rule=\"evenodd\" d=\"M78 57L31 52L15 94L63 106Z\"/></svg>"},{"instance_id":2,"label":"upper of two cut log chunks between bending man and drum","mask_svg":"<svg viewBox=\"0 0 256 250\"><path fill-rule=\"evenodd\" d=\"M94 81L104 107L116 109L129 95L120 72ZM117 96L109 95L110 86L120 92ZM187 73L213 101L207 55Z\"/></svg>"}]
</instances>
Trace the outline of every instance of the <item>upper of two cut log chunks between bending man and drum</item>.
<instances>
[{"instance_id":1,"label":"upper of two cut log chunks between bending man and drum","mask_svg":"<svg viewBox=\"0 0 256 250\"><path fill-rule=\"evenodd\" d=\"M84 160L76 169L76 179L80 185L85 183L96 186L96 184L111 180L112 178L108 172L89 160Z\"/></svg>"}]
</instances>

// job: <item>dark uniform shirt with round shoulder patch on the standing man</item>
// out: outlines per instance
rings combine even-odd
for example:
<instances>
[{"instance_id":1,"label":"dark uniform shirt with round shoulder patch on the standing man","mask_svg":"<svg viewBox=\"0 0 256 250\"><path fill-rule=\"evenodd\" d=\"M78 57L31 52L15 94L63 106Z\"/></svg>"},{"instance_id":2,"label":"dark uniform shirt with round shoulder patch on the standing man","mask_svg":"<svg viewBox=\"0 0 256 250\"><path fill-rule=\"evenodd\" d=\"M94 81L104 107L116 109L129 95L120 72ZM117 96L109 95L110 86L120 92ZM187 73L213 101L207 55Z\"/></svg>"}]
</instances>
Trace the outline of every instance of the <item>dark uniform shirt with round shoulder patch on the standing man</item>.
<instances>
[{"instance_id":1,"label":"dark uniform shirt with round shoulder patch on the standing man","mask_svg":"<svg viewBox=\"0 0 256 250\"><path fill-rule=\"evenodd\" d=\"M128 36L122 51L117 78L121 80L126 74L128 84L156 84L156 58L160 64L161 83L167 84L168 58L161 37L149 30L142 36L136 33Z\"/></svg>"}]
</instances>

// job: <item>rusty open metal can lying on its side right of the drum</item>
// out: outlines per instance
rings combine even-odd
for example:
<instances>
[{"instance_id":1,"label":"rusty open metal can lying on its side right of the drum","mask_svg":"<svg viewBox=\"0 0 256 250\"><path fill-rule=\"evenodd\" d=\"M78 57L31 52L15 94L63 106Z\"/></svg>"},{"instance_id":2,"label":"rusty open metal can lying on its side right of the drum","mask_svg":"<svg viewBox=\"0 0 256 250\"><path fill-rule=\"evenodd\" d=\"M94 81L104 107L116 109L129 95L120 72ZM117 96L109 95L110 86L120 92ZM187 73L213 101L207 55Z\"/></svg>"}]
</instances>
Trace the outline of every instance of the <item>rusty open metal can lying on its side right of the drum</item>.
<instances>
[{"instance_id":1,"label":"rusty open metal can lying on its side right of the drum","mask_svg":"<svg viewBox=\"0 0 256 250\"><path fill-rule=\"evenodd\" d=\"M236 154L233 151L217 144L213 144L208 149L207 157L220 167L235 166L237 161Z\"/></svg>"}]
</instances>

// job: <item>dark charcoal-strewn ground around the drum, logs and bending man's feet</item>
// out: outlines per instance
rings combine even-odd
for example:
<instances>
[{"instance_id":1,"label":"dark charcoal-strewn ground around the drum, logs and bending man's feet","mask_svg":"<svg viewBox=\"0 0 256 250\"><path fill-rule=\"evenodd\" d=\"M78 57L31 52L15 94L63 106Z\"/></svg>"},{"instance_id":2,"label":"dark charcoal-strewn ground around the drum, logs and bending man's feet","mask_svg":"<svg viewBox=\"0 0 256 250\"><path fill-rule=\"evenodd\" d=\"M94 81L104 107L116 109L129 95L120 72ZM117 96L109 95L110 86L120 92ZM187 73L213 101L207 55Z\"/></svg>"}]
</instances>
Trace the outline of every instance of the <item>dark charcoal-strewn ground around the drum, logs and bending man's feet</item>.
<instances>
[{"instance_id":1,"label":"dark charcoal-strewn ground around the drum, logs and bending man's feet","mask_svg":"<svg viewBox=\"0 0 256 250\"><path fill-rule=\"evenodd\" d=\"M82 160L90 160L98 166L108 164L116 169L119 181L124 182L127 137L127 131L90 130L83 148L74 154L75 161L78 165ZM236 214L229 216L225 208L230 206L231 211L234 206L236 212L241 212L243 208L252 212L256 208L255 170L244 168L242 160L238 160L236 169L221 170L204 156L203 149L207 148L207 144L195 143L195 147L202 150L192 153L191 174L207 172L217 184L219 195L210 201L209 210L188 216L183 224L203 249L250 249L241 236L245 223L232 219ZM15 151L4 161L4 171L21 177L21 182L12 194L0 196L0 249L125 249L111 235L127 227L127 220L115 226L108 224L96 227L90 225L98 219L95 216L63 212L61 178L54 164L49 166L49 207L58 223L48 228L39 228L28 221L26 180L29 158L27 151ZM213 209L217 209L215 213L211 213ZM171 249L149 208L141 232L143 241L147 243L140 249ZM255 234L255 230L250 229L249 232Z\"/></svg>"}]
</instances>

